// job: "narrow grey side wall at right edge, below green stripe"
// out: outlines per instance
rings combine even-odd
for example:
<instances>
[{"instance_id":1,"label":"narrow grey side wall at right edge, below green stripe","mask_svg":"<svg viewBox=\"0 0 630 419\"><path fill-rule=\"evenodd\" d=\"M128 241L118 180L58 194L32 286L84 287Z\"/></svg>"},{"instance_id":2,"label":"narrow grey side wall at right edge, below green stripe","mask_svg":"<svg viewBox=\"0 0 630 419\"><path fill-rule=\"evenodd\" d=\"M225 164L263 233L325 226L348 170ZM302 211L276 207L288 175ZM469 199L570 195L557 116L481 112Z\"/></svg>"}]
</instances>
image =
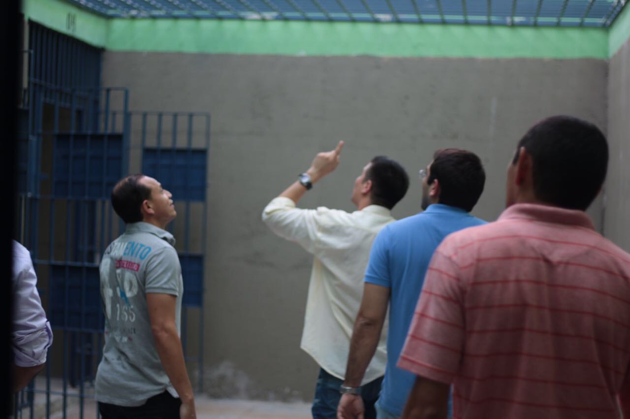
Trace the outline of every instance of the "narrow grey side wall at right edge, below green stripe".
<instances>
[{"instance_id":1,"label":"narrow grey side wall at right edge, below green stripe","mask_svg":"<svg viewBox=\"0 0 630 419\"><path fill-rule=\"evenodd\" d=\"M605 185L605 233L630 252L630 39L610 59L608 140L610 164Z\"/></svg>"}]
</instances>

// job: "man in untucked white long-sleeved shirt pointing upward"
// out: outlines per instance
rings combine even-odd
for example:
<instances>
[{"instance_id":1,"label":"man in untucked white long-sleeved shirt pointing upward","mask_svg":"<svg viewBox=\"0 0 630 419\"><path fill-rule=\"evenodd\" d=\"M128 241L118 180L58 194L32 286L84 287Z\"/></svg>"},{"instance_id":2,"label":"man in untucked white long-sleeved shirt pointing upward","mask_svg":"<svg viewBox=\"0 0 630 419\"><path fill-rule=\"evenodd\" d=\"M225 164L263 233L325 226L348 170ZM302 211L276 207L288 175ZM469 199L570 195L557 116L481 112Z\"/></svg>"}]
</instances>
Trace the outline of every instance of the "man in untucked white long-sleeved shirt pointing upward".
<instances>
[{"instance_id":1,"label":"man in untucked white long-sleeved shirt pointing upward","mask_svg":"<svg viewBox=\"0 0 630 419\"><path fill-rule=\"evenodd\" d=\"M351 200L357 211L296 208L314 183L336 169L342 147L343 141L335 150L316 155L299 180L263 210L263 221L273 233L314 255L301 348L321 367L311 410L316 419L336 417L346 390L341 384L370 247L377 233L394 221L391 209L409 187L409 177L398 162L377 156L354 183ZM386 335L384 327L362 382L365 418L375 417L374 403L386 365Z\"/></svg>"}]
</instances>

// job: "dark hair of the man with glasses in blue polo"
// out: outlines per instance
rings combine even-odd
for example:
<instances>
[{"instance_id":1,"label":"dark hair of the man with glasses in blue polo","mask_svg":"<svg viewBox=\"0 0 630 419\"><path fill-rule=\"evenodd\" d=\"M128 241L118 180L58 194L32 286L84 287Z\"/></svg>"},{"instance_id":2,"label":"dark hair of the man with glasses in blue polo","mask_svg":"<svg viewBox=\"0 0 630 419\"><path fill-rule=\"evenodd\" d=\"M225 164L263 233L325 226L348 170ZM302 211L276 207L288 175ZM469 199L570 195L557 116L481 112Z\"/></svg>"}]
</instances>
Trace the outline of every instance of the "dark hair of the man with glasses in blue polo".
<instances>
[{"instance_id":1,"label":"dark hair of the man with glasses in blue polo","mask_svg":"<svg viewBox=\"0 0 630 419\"><path fill-rule=\"evenodd\" d=\"M440 184L438 203L461 208L469 213L479 201L486 182L481 159L467 150L444 148L433 154L428 184Z\"/></svg>"}]
</instances>

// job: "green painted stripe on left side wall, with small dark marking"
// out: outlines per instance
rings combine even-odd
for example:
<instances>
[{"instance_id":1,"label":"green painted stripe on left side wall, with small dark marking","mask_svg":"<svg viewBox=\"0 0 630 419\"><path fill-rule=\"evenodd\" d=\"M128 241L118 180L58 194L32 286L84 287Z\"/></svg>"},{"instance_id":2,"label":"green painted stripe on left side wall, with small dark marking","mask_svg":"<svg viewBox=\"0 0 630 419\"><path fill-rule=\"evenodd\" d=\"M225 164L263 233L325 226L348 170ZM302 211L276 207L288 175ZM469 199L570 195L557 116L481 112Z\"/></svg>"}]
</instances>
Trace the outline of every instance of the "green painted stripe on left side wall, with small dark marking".
<instances>
[{"instance_id":1,"label":"green painted stripe on left side wall, with small dark marking","mask_svg":"<svg viewBox=\"0 0 630 419\"><path fill-rule=\"evenodd\" d=\"M109 26L106 18L61 0L22 0L22 12L26 20L36 21L95 47L106 47ZM74 25L68 25L69 14L74 18Z\"/></svg>"}]
</instances>

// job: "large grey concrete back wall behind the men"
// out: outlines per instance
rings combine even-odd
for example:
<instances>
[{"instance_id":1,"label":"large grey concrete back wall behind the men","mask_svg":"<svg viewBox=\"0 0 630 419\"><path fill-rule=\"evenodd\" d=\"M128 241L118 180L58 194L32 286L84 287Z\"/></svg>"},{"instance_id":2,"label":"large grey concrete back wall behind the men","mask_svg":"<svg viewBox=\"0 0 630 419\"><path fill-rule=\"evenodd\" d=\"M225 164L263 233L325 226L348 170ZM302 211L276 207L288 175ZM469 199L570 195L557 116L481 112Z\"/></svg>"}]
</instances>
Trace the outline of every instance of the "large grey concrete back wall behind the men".
<instances>
[{"instance_id":1,"label":"large grey concrete back wall behind the men","mask_svg":"<svg viewBox=\"0 0 630 419\"><path fill-rule=\"evenodd\" d=\"M530 125L559 113L607 121L607 63L589 59L106 52L103 84L129 87L132 109L212 114L206 388L224 397L312 397L317 367L299 349L311 257L260 214L316 152L346 141L338 170L301 206L352 210L355 177L384 154L412 179L400 218L419 210L417 172L435 149L473 150L488 174L474 213L494 220ZM600 201L591 213L599 225Z\"/></svg>"}]
</instances>

